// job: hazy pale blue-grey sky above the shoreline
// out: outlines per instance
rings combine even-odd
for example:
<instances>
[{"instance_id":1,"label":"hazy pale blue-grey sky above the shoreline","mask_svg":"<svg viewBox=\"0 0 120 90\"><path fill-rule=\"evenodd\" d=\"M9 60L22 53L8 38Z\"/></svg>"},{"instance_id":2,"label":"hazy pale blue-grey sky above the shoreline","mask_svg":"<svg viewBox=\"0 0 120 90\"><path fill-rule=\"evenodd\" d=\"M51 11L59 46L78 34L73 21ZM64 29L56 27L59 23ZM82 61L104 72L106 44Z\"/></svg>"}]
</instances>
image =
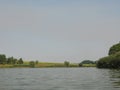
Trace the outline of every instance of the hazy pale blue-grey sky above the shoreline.
<instances>
[{"instance_id":1,"label":"hazy pale blue-grey sky above the shoreline","mask_svg":"<svg viewBox=\"0 0 120 90\"><path fill-rule=\"evenodd\" d=\"M120 0L0 0L0 54L41 62L107 56L120 41Z\"/></svg>"}]
</instances>

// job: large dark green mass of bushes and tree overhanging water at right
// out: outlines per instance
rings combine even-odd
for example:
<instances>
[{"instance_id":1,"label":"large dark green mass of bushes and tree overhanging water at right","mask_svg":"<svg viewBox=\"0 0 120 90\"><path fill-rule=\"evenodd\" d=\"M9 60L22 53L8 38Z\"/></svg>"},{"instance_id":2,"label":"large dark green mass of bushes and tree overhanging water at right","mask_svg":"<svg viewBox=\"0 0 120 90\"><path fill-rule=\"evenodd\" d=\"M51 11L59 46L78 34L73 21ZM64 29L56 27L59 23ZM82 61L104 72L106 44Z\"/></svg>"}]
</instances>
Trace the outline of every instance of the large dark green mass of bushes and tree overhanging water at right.
<instances>
[{"instance_id":1,"label":"large dark green mass of bushes and tree overhanging water at right","mask_svg":"<svg viewBox=\"0 0 120 90\"><path fill-rule=\"evenodd\" d=\"M120 69L120 43L110 47L108 56L100 58L97 67Z\"/></svg>"}]
</instances>

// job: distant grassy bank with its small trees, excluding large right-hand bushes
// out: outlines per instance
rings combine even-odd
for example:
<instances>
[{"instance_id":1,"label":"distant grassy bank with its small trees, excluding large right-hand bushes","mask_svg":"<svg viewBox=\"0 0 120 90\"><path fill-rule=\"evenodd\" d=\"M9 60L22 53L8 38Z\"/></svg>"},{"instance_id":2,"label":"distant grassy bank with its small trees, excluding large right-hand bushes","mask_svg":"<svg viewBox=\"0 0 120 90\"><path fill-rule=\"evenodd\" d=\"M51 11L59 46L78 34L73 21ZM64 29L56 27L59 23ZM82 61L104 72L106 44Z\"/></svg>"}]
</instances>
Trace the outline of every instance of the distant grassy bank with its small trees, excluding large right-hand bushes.
<instances>
[{"instance_id":1,"label":"distant grassy bank with its small trees, excluding large right-hand bushes","mask_svg":"<svg viewBox=\"0 0 120 90\"><path fill-rule=\"evenodd\" d=\"M86 61L83 61L86 62ZM92 62L92 61L90 61ZM36 61L25 61L22 58L6 57L5 54L0 54L0 68L44 68L44 67L95 67L93 63L70 63L69 61L64 61L63 63L55 62L39 62Z\"/></svg>"}]
</instances>

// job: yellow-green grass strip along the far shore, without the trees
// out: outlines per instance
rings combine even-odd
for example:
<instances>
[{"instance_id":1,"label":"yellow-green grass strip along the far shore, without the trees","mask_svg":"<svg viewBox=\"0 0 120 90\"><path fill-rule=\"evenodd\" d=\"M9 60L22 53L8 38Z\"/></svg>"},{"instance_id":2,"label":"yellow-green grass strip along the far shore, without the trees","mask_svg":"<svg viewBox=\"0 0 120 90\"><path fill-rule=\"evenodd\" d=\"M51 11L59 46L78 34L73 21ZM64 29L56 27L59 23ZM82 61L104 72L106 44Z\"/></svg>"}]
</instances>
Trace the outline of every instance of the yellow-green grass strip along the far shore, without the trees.
<instances>
[{"instance_id":1,"label":"yellow-green grass strip along the far shore, without the trees","mask_svg":"<svg viewBox=\"0 0 120 90\"><path fill-rule=\"evenodd\" d=\"M24 64L0 64L0 68L49 68L49 67L67 67L64 63L51 63L51 62L39 62L31 66L29 62L24 62ZM77 63L70 63L68 67L79 67ZM95 64L83 64L82 67L96 67Z\"/></svg>"}]
</instances>

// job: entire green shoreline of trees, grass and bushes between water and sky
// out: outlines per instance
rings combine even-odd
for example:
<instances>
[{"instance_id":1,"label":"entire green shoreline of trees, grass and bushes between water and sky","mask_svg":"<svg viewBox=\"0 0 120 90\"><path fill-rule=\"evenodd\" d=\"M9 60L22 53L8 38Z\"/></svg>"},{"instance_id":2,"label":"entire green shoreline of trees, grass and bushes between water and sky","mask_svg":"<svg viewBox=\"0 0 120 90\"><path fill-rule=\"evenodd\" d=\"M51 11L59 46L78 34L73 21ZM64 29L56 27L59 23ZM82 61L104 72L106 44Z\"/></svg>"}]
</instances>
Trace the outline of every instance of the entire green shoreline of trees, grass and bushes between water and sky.
<instances>
[{"instance_id":1,"label":"entire green shoreline of trees, grass and bushes between water and sky","mask_svg":"<svg viewBox=\"0 0 120 90\"><path fill-rule=\"evenodd\" d=\"M6 57L0 54L0 68L43 68L43 67L98 67L120 69L120 43L110 47L108 56L100 58L98 61L84 60L81 63L63 63L24 61L22 58Z\"/></svg>"}]
</instances>

